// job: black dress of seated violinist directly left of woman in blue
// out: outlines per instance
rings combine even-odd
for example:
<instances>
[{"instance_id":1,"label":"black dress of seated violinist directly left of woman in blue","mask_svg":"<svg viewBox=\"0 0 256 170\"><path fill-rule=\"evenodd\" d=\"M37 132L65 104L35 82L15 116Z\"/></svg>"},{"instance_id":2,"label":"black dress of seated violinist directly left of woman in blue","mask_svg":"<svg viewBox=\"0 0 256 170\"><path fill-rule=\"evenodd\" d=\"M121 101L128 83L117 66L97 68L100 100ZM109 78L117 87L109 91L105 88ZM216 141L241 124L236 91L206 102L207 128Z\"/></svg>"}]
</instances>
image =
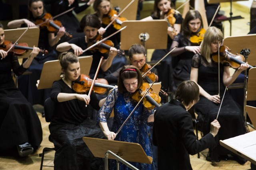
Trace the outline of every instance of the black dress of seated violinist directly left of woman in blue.
<instances>
[{"instance_id":1,"label":"black dress of seated violinist directly left of woman in blue","mask_svg":"<svg viewBox=\"0 0 256 170\"><path fill-rule=\"evenodd\" d=\"M103 161L95 158L85 145L82 137L105 138L96 122L88 117L89 106L99 110L99 100L92 92L90 105L78 99L58 102L59 93L76 93L62 79L52 85L51 99L55 102L54 115L49 125L50 133L56 148L54 169L88 169L100 170Z\"/></svg>"}]
</instances>

